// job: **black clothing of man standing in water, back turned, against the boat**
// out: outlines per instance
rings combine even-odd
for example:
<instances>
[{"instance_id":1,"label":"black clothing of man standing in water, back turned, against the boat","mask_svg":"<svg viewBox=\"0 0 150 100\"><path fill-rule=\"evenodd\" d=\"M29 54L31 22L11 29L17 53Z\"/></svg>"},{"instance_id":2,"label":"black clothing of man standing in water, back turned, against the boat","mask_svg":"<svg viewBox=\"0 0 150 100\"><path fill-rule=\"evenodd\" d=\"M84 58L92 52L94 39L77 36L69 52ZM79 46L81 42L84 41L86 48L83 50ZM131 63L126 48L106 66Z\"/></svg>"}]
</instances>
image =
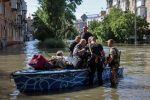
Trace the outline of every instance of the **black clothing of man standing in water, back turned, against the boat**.
<instances>
[{"instance_id":1,"label":"black clothing of man standing in water, back turned, against the boat","mask_svg":"<svg viewBox=\"0 0 150 100\"><path fill-rule=\"evenodd\" d=\"M97 70L97 77L99 85L103 84L102 72L103 72L103 63L102 63L102 51L103 47L98 43L91 43L89 45L89 50L91 51L91 58L88 60L89 71L89 85L93 85L95 71Z\"/></svg>"}]
</instances>

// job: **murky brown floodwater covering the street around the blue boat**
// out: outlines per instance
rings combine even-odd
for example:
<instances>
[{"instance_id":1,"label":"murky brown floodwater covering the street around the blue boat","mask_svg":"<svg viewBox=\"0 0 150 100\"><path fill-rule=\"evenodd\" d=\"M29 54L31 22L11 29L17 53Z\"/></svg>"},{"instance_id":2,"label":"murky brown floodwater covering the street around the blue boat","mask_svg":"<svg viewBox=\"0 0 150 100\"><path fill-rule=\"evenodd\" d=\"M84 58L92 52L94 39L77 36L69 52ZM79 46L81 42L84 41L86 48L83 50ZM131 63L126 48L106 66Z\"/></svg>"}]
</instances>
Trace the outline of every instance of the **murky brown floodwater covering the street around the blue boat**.
<instances>
[{"instance_id":1,"label":"murky brown floodwater covering the street around the blue boat","mask_svg":"<svg viewBox=\"0 0 150 100\"><path fill-rule=\"evenodd\" d=\"M121 66L124 67L123 78L116 88L107 82L103 86L76 90L51 91L50 93L20 93L10 74L16 70L26 69L27 62L33 54L47 52L37 49L38 41L14 45L0 50L0 100L150 100L150 45L119 44L122 51ZM108 48L104 46L106 53ZM48 50L54 55L57 50ZM65 50L67 51L67 50Z\"/></svg>"}]
</instances>

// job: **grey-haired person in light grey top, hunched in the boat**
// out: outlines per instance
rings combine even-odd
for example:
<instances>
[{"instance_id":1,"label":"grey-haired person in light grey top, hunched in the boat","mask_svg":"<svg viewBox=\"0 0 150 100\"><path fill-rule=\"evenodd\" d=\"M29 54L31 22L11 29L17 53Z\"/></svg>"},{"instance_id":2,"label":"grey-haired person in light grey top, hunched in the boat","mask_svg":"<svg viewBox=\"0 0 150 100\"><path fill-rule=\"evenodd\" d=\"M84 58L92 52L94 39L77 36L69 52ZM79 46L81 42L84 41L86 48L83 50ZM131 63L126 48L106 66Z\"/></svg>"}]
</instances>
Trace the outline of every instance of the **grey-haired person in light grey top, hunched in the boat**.
<instances>
[{"instance_id":1,"label":"grey-haired person in light grey top, hunched in the boat","mask_svg":"<svg viewBox=\"0 0 150 100\"><path fill-rule=\"evenodd\" d=\"M77 58L78 62L76 64L76 68L84 68L86 67L86 40L81 39L80 42L75 46L73 51L73 56Z\"/></svg>"}]
</instances>

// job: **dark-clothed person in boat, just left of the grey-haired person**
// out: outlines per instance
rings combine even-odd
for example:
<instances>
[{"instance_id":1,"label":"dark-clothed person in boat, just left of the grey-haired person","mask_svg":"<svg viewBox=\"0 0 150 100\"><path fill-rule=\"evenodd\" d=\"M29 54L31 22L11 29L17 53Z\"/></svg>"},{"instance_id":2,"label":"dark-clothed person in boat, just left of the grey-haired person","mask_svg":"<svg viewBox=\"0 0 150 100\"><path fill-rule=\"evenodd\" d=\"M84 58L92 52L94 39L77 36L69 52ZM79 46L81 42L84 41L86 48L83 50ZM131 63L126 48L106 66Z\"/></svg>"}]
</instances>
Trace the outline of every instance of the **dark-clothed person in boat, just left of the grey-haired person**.
<instances>
[{"instance_id":1,"label":"dark-clothed person in boat, just left of the grey-haired person","mask_svg":"<svg viewBox=\"0 0 150 100\"><path fill-rule=\"evenodd\" d=\"M81 37L76 36L75 40L70 44L70 47L69 47L70 57L73 57L74 47L80 42L80 40L81 40Z\"/></svg>"}]
</instances>

